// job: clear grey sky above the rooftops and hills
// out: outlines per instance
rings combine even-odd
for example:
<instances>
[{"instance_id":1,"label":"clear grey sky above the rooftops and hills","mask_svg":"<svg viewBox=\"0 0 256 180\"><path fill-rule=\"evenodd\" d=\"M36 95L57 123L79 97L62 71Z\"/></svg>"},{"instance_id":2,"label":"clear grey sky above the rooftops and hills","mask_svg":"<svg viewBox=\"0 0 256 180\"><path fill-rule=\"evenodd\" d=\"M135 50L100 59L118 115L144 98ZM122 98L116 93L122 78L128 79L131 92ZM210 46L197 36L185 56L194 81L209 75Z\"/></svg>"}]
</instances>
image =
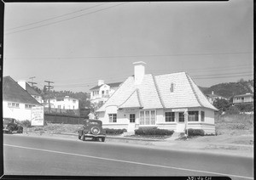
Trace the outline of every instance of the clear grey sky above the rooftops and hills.
<instances>
[{"instance_id":1,"label":"clear grey sky above the rooftops and hills","mask_svg":"<svg viewBox=\"0 0 256 180\"><path fill-rule=\"evenodd\" d=\"M89 92L185 71L201 87L253 79L253 0L5 3L3 76Z\"/></svg>"}]
</instances>

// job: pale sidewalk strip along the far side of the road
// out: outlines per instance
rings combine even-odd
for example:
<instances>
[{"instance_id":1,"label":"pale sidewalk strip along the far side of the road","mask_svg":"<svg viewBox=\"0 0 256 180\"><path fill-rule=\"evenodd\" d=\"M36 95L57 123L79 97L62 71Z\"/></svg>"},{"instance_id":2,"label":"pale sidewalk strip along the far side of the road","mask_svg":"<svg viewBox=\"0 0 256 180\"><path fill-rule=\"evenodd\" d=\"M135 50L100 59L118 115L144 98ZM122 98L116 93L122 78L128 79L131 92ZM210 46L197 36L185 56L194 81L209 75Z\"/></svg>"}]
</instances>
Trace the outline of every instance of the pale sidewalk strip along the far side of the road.
<instances>
[{"instance_id":1,"label":"pale sidewalk strip along the far side of the road","mask_svg":"<svg viewBox=\"0 0 256 180\"><path fill-rule=\"evenodd\" d=\"M24 132L26 135L49 136L49 137L69 137L77 139L76 133L54 133L54 132ZM106 142L109 143L130 143L133 145L143 145L152 149L169 149L183 152L207 153L218 155L238 155L253 158L253 145L236 143L215 143L196 142L194 140L174 140L174 139L150 139L150 138L130 138L124 136L108 136Z\"/></svg>"}]
</instances>

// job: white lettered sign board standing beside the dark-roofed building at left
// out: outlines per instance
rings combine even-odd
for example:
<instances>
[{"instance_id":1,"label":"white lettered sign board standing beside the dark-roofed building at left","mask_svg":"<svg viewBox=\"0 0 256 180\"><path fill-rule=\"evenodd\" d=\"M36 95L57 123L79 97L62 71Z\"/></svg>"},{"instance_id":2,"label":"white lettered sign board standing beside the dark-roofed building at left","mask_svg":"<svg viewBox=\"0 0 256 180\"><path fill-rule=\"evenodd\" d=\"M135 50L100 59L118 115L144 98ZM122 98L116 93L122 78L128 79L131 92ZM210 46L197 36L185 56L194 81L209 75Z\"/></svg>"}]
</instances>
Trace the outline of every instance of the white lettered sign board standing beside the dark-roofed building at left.
<instances>
[{"instance_id":1,"label":"white lettered sign board standing beside the dark-roofed building at left","mask_svg":"<svg viewBox=\"0 0 256 180\"><path fill-rule=\"evenodd\" d=\"M32 107L31 109L31 125L44 126L44 106Z\"/></svg>"}]
</instances>

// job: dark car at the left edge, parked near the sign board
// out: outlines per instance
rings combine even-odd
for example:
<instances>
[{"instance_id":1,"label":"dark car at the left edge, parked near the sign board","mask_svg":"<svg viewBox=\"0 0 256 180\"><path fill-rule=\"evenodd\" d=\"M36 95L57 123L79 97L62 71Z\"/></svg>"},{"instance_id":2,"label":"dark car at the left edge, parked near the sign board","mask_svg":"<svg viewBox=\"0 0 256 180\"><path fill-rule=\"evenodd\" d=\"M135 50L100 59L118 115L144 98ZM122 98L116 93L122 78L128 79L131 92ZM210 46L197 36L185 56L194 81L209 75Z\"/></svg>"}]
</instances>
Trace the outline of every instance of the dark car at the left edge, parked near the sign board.
<instances>
[{"instance_id":1,"label":"dark car at the left edge, parked near the sign board","mask_svg":"<svg viewBox=\"0 0 256 180\"><path fill-rule=\"evenodd\" d=\"M23 133L23 127L14 118L3 118L3 132L10 134L13 132Z\"/></svg>"}]
</instances>

